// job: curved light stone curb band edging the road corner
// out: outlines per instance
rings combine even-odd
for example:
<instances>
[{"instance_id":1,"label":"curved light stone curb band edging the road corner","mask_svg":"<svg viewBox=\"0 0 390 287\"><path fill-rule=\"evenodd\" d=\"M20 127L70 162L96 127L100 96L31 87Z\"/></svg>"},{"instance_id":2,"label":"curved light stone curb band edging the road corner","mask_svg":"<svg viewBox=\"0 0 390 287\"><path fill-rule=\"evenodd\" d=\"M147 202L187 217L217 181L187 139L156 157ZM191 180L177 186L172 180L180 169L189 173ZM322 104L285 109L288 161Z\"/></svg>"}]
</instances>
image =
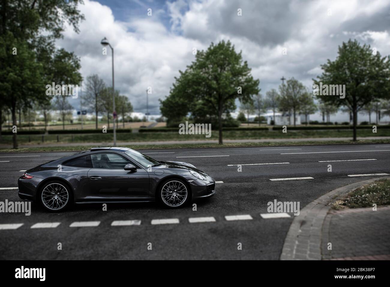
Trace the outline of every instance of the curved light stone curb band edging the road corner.
<instances>
[{"instance_id":1,"label":"curved light stone curb band edging the road corner","mask_svg":"<svg viewBox=\"0 0 390 287\"><path fill-rule=\"evenodd\" d=\"M371 178L339 187L306 205L300 215L294 216L284 241L280 260L321 260L322 229L330 210L329 204L362 185L384 178L390 177Z\"/></svg>"}]
</instances>

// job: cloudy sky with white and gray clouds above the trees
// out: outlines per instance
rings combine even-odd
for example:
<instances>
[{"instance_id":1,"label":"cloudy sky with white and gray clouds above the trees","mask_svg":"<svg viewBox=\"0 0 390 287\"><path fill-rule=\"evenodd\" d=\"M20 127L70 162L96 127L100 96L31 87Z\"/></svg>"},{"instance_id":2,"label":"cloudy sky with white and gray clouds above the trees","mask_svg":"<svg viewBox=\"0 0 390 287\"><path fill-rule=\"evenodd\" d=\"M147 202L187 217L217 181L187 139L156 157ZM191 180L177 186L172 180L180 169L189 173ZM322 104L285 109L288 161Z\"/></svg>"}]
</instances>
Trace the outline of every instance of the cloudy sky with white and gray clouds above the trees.
<instances>
[{"instance_id":1,"label":"cloudy sky with white and gray clouds above the trees","mask_svg":"<svg viewBox=\"0 0 390 287\"><path fill-rule=\"evenodd\" d=\"M136 112L146 111L152 87L149 109L160 114L158 99L193 61L193 48L211 42L229 39L242 50L262 94L277 89L282 76L311 87L320 65L349 38L390 54L390 0L84 0L79 9L80 34L69 28L57 45L81 58L84 78L97 73L111 85L111 52L103 55L100 45L107 37L115 49L115 88Z\"/></svg>"}]
</instances>

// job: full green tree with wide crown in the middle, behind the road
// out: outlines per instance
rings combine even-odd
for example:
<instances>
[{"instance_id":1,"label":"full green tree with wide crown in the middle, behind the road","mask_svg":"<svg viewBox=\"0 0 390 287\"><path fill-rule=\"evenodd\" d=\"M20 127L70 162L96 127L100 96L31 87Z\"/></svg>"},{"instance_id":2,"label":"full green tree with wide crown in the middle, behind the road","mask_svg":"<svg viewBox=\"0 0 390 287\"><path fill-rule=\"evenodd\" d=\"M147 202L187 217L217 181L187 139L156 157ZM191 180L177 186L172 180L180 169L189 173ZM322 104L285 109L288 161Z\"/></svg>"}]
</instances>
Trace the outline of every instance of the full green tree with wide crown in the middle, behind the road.
<instances>
[{"instance_id":1,"label":"full green tree with wide crown in the middle, behind the road","mask_svg":"<svg viewBox=\"0 0 390 287\"><path fill-rule=\"evenodd\" d=\"M195 61L179 73L170 95L161 101L161 113L169 119L171 115L167 112L172 109L167 107L175 106L177 117L186 116L193 103L202 103L209 115L217 116L219 143L222 144L223 114L236 109L234 100L248 102L252 94L259 93L260 81L252 77L248 63L230 41L211 43L206 51L198 51ZM180 100L180 96L183 99Z\"/></svg>"}]
</instances>

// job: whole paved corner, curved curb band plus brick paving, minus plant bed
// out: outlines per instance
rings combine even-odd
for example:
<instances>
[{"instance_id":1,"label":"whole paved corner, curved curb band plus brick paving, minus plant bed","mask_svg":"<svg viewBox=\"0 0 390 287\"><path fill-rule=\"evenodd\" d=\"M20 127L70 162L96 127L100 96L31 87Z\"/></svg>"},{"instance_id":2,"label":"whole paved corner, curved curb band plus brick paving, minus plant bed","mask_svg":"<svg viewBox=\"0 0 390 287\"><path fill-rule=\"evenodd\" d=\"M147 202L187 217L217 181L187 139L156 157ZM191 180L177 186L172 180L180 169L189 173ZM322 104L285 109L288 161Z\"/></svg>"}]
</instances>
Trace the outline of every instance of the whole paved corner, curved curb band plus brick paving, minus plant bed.
<instances>
[{"instance_id":1,"label":"whole paved corner, curved curb band plus brick paving, minus plant bed","mask_svg":"<svg viewBox=\"0 0 390 287\"><path fill-rule=\"evenodd\" d=\"M294 216L280 260L388 260L390 207L332 210L330 203L362 185L389 176L339 187L313 200ZM328 242L332 250L328 250Z\"/></svg>"}]
</instances>

